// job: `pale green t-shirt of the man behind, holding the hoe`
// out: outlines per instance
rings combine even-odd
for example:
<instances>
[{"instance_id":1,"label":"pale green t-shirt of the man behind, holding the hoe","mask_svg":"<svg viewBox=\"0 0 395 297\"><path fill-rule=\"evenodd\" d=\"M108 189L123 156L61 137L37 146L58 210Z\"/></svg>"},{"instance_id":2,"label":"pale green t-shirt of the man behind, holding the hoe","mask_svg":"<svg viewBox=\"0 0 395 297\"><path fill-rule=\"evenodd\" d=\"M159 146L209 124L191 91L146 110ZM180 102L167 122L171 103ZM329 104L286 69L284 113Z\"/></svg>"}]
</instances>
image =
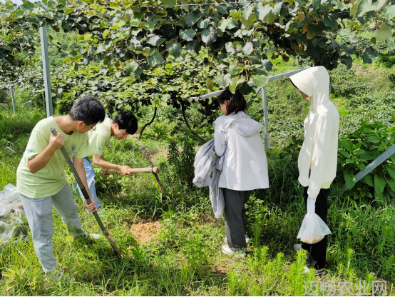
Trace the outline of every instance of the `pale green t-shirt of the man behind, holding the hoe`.
<instances>
[{"instance_id":1,"label":"pale green t-shirt of the man behind, holding the hoe","mask_svg":"<svg viewBox=\"0 0 395 297\"><path fill-rule=\"evenodd\" d=\"M103 156L104 148L107 146L111 139L111 124L113 121L106 118L103 122L96 125L95 131L89 131L89 145L91 146L91 153Z\"/></svg>"}]
</instances>

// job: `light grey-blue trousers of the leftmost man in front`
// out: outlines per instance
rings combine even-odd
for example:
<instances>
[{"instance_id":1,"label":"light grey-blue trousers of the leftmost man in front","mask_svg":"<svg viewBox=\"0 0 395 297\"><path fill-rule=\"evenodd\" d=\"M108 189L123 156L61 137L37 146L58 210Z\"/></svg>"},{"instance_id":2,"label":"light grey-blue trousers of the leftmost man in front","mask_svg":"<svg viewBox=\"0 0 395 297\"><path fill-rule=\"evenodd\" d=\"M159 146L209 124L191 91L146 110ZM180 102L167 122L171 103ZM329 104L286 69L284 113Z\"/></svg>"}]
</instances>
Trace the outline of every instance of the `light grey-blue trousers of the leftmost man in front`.
<instances>
[{"instance_id":1,"label":"light grey-blue trousers of the leftmost man in front","mask_svg":"<svg viewBox=\"0 0 395 297\"><path fill-rule=\"evenodd\" d=\"M61 215L68 232L74 237L83 236L78 216L78 205L73 199L68 183L53 196L46 198L29 198L21 195L26 218L33 237L34 250L45 273L56 269L56 258L53 255L53 220L52 206Z\"/></svg>"}]
</instances>

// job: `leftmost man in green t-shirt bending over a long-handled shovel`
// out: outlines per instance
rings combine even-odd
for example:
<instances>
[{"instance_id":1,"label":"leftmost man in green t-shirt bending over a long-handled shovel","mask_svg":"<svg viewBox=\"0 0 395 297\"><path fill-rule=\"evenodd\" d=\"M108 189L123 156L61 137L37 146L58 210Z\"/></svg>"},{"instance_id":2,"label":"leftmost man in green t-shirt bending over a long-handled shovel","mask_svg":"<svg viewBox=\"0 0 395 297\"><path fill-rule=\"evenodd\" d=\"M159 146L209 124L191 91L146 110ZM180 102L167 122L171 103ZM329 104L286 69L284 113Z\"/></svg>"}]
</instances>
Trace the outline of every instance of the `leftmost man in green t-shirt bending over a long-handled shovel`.
<instances>
[{"instance_id":1,"label":"leftmost man in green t-shirt bending over a long-handled shovel","mask_svg":"<svg viewBox=\"0 0 395 297\"><path fill-rule=\"evenodd\" d=\"M62 271L57 271L53 255L52 206L61 215L69 233L74 237L87 236L81 228L78 205L66 181L67 162L59 148L66 148L91 196L83 167L83 158L91 151L86 132L105 117L103 104L94 97L85 96L75 102L66 116L51 116L39 121L16 171L16 188L21 194L37 257L43 271L56 279L68 280ZM56 136L51 134L51 127L58 132ZM97 210L94 201L90 205L85 202L84 206L88 211Z\"/></svg>"}]
</instances>

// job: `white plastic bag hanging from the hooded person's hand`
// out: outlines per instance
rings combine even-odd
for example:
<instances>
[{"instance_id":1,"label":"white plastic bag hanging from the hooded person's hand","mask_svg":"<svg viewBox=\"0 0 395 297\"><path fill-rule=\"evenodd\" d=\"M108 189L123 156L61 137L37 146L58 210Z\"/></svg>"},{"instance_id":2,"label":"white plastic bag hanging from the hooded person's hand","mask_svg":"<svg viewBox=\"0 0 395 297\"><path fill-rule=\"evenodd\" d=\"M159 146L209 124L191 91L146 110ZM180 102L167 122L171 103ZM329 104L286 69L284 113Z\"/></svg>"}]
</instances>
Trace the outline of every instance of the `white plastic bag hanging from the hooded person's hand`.
<instances>
[{"instance_id":1,"label":"white plastic bag hanging from the hooded person's hand","mask_svg":"<svg viewBox=\"0 0 395 297\"><path fill-rule=\"evenodd\" d=\"M315 213L316 199L307 198L307 214L304 216L297 238L304 243L314 244L332 234L327 224Z\"/></svg>"}]
</instances>

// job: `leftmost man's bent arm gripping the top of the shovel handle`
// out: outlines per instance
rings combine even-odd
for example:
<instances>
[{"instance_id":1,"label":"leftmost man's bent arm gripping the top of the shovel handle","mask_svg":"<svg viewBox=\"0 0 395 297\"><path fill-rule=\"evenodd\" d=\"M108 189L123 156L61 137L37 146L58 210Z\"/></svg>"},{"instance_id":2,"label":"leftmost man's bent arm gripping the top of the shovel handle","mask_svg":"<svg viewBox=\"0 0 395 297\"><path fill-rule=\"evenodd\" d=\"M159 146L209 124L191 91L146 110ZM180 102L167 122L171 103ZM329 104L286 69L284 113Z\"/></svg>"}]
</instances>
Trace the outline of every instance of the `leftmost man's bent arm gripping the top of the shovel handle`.
<instances>
[{"instance_id":1,"label":"leftmost man's bent arm gripping the top of the shovel handle","mask_svg":"<svg viewBox=\"0 0 395 297\"><path fill-rule=\"evenodd\" d=\"M42 168L48 164L49 160L51 160L53 153L55 153L59 148L61 148L64 144L64 139L61 134L57 134L56 136L49 136L49 144L44 148L44 150L39 153L34 158L30 158L27 161L27 168L31 173L36 173L40 171Z\"/></svg>"}]
</instances>

